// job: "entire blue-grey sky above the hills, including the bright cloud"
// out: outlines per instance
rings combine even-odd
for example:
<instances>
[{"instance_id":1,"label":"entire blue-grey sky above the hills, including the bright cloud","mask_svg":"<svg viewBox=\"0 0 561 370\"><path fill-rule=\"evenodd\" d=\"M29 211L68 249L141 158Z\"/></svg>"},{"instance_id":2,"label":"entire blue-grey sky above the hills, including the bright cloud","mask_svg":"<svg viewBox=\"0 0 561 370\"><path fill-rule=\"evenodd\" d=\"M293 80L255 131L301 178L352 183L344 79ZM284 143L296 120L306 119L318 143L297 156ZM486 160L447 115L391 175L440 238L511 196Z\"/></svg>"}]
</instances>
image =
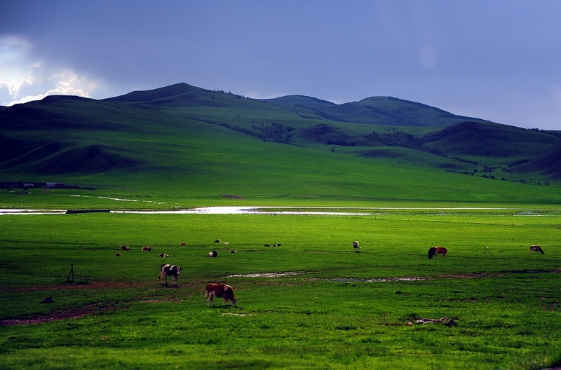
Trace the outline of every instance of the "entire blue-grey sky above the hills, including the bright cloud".
<instances>
[{"instance_id":1,"label":"entire blue-grey sky above the hills, including the bright cloud","mask_svg":"<svg viewBox=\"0 0 561 370\"><path fill-rule=\"evenodd\" d=\"M0 105L189 83L561 130L557 0L0 1Z\"/></svg>"}]
</instances>

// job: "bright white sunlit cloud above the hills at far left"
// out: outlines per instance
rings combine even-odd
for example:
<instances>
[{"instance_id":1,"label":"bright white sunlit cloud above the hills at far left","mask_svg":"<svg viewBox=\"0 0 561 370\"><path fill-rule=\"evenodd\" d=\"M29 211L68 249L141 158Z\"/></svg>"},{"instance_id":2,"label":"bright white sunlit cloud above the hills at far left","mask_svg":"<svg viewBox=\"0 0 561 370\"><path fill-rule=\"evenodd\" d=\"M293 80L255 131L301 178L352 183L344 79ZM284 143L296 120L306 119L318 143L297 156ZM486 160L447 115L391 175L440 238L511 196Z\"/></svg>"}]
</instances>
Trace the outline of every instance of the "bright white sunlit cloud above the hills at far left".
<instances>
[{"instance_id":1,"label":"bright white sunlit cloud above the hills at far left","mask_svg":"<svg viewBox=\"0 0 561 370\"><path fill-rule=\"evenodd\" d=\"M16 36L0 38L0 104L11 106L41 100L48 95L89 97L95 81L72 69L53 67L30 55L32 46ZM27 66L27 67L25 67Z\"/></svg>"}]
</instances>

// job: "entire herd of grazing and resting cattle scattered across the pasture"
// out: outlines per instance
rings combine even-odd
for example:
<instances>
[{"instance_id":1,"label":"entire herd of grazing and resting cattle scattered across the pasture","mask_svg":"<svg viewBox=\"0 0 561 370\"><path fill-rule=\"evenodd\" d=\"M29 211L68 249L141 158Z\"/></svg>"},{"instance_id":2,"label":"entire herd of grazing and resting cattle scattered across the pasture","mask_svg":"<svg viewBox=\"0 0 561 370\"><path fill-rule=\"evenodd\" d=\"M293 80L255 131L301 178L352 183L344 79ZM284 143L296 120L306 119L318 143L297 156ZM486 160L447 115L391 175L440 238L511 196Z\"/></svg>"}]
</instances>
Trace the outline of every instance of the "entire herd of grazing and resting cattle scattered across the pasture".
<instances>
[{"instance_id":1,"label":"entire herd of grazing and resting cattle scattered across the pasture","mask_svg":"<svg viewBox=\"0 0 561 370\"><path fill-rule=\"evenodd\" d=\"M215 240L215 242L221 242L221 241L217 239ZM229 243L224 242L224 244L228 245ZM186 245L186 243L181 242L180 245L184 246ZM264 246L270 247L271 245L266 244ZM274 247L280 247L280 244L275 244ZM487 249L487 247L485 248ZM121 249L122 251L129 251L130 247L128 247L127 245L121 245L119 249ZM358 249L360 249L360 244L357 240L353 241L353 249L356 252L358 252ZM152 250L151 245L142 247L142 252L151 252L151 250ZM236 253L236 250L232 249L230 252ZM445 247L430 247L428 248L428 259L433 259L433 257L438 256L438 254L441 254L443 257L445 257L447 252L448 249ZM543 254L543 249L541 249L541 246L539 245L530 245L529 252L530 253L537 252ZM121 254L119 252L116 252L115 256L121 256ZM162 258L169 257L168 254L164 254L164 253L160 253L159 256ZM218 252L213 250L212 252L208 253L208 256L215 258L218 256ZM170 263L164 263L163 265L160 266L160 275L158 276L158 280L160 280L162 285L164 284L165 281L165 285L167 286L168 277L170 277L172 278L172 285L177 285L177 278L179 277L181 270L182 268L180 266L172 265ZM236 302L238 301L238 297L234 296L234 289L232 289L231 286L224 285L224 284L215 284L215 283L208 284L205 287L205 299L207 300L208 307L210 307L211 302L212 302L212 306L216 307L214 303L215 297L224 299L224 302L222 304L228 304L230 302L232 306L236 306Z\"/></svg>"}]
</instances>

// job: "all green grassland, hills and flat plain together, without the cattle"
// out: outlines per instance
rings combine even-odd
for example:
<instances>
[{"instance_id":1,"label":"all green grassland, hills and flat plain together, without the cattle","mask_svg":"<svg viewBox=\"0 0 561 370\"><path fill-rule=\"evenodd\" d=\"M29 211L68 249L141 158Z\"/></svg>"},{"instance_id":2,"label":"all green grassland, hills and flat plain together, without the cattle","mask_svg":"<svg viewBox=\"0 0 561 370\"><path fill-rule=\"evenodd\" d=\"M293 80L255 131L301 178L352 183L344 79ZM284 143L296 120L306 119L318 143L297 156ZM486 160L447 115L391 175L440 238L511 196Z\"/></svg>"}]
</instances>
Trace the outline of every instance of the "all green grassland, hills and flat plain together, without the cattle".
<instances>
[{"instance_id":1,"label":"all green grassland, hills and flat plain together, without the cattle","mask_svg":"<svg viewBox=\"0 0 561 370\"><path fill-rule=\"evenodd\" d=\"M396 119L428 125L357 123L365 106L310 99L175 85L5 109L1 182L95 190L0 189L0 369L561 366L556 134L440 130L453 122L418 104ZM123 213L226 205L279 208ZM429 260L435 245L448 255ZM157 281L162 263L182 266L177 287ZM208 308L208 282L234 287L238 306Z\"/></svg>"}]
</instances>

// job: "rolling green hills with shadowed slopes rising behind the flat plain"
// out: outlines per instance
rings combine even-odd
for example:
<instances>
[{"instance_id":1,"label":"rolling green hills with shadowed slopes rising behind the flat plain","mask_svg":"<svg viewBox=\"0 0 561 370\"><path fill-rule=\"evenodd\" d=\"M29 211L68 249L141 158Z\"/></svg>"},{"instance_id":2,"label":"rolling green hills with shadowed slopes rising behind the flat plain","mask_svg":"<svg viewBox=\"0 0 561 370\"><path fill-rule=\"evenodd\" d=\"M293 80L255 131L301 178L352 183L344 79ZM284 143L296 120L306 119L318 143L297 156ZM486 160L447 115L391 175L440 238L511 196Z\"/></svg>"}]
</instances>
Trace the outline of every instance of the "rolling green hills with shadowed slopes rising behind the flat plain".
<instances>
[{"instance_id":1,"label":"rolling green hills with shadowed slopes rising behind the flat plain","mask_svg":"<svg viewBox=\"0 0 561 370\"><path fill-rule=\"evenodd\" d=\"M396 191L410 191L338 184L345 172L353 178L384 173L385 179L368 180L380 186L407 177L419 186L415 177L456 176L450 177L454 182L461 174L555 180L559 143L555 132L456 116L393 97L346 104L302 95L255 100L187 83L107 100L50 96L0 109L4 181L150 177L188 181L194 193L208 184L222 189L223 178L230 188L224 193L275 188L286 196L335 196L346 189L358 198L364 192L396 198ZM316 184L302 188L306 178Z\"/></svg>"}]
</instances>

